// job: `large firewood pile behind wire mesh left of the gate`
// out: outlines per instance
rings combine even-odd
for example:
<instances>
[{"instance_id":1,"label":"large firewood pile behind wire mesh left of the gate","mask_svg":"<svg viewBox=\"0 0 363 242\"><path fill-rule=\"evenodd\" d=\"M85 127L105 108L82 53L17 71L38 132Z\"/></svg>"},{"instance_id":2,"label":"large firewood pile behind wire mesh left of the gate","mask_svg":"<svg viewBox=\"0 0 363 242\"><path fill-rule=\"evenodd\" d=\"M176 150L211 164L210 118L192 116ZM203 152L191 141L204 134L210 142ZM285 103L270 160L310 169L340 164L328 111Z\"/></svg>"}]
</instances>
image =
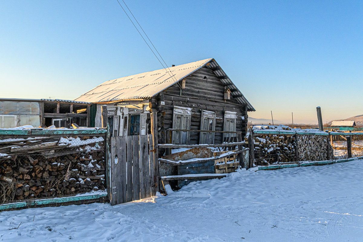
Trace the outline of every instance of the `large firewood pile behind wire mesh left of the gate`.
<instances>
[{"instance_id":1,"label":"large firewood pile behind wire mesh left of the gate","mask_svg":"<svg viewBox=\"0 0 363 242\"><path fill-rule=\"evenodd\" d=\"M103 137L1 139L0 203L105 190L103 147Z\"/></svg>"}]
</instances>

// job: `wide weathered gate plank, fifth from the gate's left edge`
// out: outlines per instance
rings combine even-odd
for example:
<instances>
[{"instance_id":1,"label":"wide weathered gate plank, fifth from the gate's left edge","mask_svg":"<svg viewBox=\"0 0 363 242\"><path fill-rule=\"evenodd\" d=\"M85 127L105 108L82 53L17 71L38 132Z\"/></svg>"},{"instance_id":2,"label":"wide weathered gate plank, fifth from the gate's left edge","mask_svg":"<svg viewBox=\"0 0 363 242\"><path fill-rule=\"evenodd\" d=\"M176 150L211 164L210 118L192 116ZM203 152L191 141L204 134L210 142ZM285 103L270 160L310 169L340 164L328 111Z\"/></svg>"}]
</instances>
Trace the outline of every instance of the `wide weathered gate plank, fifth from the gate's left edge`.
<instances>
[{"instance_id":1,"label":"wide weathered gate plank, fifth from the gate's left edge","mask_svg":"<svg viewBox=\"0 0 363 242\"><path fill-rule=\"evenodd\" d=\"M140 198L151 197L150 168L147 135L139 136L140 144Z\"/></svg>"}]
</instances>

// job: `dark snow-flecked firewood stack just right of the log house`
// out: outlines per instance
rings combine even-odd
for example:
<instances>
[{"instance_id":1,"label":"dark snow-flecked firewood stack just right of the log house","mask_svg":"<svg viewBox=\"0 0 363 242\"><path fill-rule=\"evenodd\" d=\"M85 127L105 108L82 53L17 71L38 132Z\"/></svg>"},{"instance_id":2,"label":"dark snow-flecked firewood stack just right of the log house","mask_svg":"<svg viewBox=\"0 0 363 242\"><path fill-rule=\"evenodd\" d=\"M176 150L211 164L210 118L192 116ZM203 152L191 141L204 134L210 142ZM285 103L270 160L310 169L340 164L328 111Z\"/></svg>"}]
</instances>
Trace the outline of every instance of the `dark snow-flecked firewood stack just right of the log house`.
<instances>
[{"instance_id":1,"label":"dark snow-flecked firewood stack just right of the log house","mask_svg":"<svg viewBox=\"0 0 363 242\"><path fill-rule=\"evenodd\" d=\"M248 142L248 138L245 138ZM256 165L295 161L295 137L279 134L254 134Z\"/></svg>"}]
</instances>

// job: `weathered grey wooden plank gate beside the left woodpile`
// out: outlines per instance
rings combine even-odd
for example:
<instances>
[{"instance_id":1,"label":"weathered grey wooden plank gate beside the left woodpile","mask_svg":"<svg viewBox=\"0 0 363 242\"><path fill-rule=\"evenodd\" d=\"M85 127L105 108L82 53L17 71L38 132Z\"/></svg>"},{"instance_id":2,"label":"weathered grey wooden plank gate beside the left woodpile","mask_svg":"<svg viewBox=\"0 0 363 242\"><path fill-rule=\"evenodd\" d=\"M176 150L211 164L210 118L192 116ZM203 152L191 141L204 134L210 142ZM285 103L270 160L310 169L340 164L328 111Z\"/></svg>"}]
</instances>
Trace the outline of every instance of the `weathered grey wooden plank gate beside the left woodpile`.
<instances>
[{"instance_id":1,"label":"weathered grey wooden plank gate beside the left woodpile","mask_svg":"<svg viewBox=\"0 0 363 242\"><path fill-rule=\"evenodd\" d=\"M111 205L155 195L159 173L156 146L152 134L111 137Z\"/></svg>"}]
</instances>

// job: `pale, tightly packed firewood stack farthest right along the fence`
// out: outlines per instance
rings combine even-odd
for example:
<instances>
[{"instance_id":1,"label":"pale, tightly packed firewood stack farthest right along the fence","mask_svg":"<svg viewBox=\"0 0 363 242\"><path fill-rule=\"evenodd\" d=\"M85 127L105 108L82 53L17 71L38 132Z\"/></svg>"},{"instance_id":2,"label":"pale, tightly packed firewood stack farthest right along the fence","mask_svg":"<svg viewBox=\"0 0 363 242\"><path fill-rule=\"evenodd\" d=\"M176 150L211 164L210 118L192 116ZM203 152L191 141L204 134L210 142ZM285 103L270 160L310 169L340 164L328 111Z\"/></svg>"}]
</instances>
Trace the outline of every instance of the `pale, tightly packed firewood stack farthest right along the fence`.
<instances>
[{"instance_id":1,"label":"pale, tightly packed firewood stack farthest right along the fence","mask_svg":"<svg viewBox=\"0 0 363 242\"><path fill-rule=\"evenodd\" d=\"M328 145L329 157L327 157ZM334 157L334 150L327 141L327 136L299 135L298 151L300 161L322 161Z\"/></svg>"}]
</instances>

